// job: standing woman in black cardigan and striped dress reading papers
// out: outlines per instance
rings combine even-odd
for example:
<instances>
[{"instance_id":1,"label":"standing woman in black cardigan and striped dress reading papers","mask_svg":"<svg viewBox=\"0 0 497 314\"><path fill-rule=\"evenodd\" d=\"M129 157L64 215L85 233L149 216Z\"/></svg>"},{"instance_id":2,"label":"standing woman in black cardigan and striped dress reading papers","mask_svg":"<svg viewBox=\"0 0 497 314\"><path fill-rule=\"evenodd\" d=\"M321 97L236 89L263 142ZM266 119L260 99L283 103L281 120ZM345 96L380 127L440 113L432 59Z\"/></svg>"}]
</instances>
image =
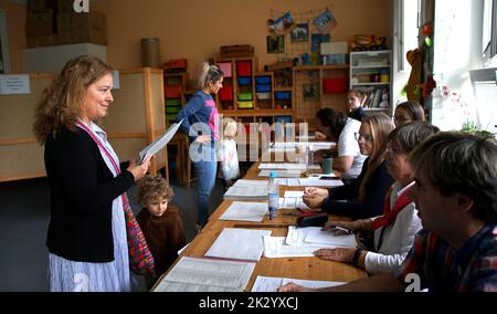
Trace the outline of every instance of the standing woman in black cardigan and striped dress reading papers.
<instances>
[{"instance_id":1,"label":"standing woman in black cardigan and striped dress reading papers","mask_svg":"<svg viewBox=\"0 0 497 314\"><path fill-rule=\"evenodd\" d=\"M130 291L126 190L150 158L119 164L96 124L113 102L113 69L93 56L64 66L43 92L33 130L50 186L50 291Z\"/></svg>"}]
</instances>

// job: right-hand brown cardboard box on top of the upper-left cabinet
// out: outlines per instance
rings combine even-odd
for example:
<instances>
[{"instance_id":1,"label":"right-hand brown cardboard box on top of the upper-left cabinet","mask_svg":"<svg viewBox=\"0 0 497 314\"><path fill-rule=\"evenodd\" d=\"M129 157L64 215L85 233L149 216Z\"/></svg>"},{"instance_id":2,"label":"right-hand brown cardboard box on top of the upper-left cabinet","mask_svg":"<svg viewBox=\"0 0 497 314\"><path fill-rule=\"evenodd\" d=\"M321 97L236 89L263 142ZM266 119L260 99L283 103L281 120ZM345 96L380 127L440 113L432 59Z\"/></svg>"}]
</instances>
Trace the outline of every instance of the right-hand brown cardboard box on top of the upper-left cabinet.
<instances>
[{"instance_id":1,"label":"right-hand brown cardboard box on top of the upper-left cabinet","mask_svg":"<svg viewBox=\"0 0 497 314\"><path fill-rule=\"evenodd\" d=\"M104 14L96 12L73 14L71 30L73 43L107 44L107 27Z\"/></svg>"}]
</instances>

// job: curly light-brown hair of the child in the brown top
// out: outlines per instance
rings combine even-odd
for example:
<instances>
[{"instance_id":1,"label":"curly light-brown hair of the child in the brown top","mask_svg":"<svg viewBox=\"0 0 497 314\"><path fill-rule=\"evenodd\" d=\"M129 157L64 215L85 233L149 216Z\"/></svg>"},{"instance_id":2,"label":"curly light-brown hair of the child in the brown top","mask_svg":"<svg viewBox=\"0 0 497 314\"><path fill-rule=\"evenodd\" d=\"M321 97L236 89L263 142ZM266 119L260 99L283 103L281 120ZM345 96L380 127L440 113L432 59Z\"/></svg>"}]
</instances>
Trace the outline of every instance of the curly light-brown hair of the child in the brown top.
<instances>
[{"instance_id":1,"label":"curly light-brown hair of the child in the brown top","mask_svg":"<svg viewBox=\"0 0 497 314\"><path fill-rule=\"evenodd\" d=\"M142 207L146 207L147 203L154 199L165 197L169 201L175 196L171 186L160 175L154 177L147 175L138 182L137 186L137 198Z\"/></svg>"}]
</instances>

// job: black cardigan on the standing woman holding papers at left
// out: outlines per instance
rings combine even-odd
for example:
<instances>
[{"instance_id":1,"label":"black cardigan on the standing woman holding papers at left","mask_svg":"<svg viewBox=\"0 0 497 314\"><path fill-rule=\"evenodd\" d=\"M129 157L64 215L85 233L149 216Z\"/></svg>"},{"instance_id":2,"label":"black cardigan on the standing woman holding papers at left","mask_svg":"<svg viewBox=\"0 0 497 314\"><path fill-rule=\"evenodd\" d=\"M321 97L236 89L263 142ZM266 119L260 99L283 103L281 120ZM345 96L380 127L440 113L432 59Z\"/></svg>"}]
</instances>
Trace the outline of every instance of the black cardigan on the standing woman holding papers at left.
<instances>
[{"instance_id":1,"label":"black cardigan on the standing woman holding papers at left","mask_svg":"<svg viewBox=\"0 0 497 314\"><path fill-rule=\"evenodd\" d=\"M50 186L49 251L71 261L112 262L114 241L112 203L135 182L124 169L116 178L105 165L98 146L80 129L62 128L45 143Z\"/></svg>"}]
</instances>

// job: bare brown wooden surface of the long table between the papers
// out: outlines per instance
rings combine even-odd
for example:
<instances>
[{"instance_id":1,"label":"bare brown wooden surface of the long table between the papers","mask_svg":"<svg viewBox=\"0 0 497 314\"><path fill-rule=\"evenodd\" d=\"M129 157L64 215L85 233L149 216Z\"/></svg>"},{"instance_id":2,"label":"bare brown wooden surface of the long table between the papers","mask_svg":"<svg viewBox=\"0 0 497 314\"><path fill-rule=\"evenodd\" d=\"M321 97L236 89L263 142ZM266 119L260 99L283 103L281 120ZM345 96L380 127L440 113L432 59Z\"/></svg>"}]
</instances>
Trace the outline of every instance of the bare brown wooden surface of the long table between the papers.
<instances>
[{"instance_id":1,"label":"bare brown wooden surface of the long table between the papers","mask_svg":"<svg viewBox=\"0 0 497 314\"><path fill-rule=\"evenodd\" d=\"M245 179L260 179L267 178L257 177L260 163L255 163L247 171ZM281 197L285 190L303 190L303 187L281 187ZM220 220L221 214L230 207L232 200L223 200L222 203L215 209L215 211L209 218L205 227L193 239L190 245L182 252L181 257L202 258L215 241L218 236L224 228L239 228L240 224L261 224L261 222L245 222L245 221L225 221ZM296 223L296 210L281 209L278 216L274 220L268 220L267 216L264 218L264 224L295 224ZM330 217L331 220L336 220L337 217ZM285 237L288 228L257 228L272 230L272 237ZM179 259L180 259L179 258ZM178 259L178 260L179 260ZM178 260L176 262L178 262ZM175 264L176 264L175 262ZM171 266L172 269L172 266ZM166 274L165 274L166 275ZM366 272L361 269L352 266L347 263L325 261L316 257L310 258L281 258L281 259L267 259L262 257L257 262L254 272L248 281L246 291L252 290L257 275L264 276L277 276L277 278L292 278L302 280L324 280L324 281L339 281L349 282L366 276ZM162 276L163 278L163 276ZM160 280L158 281L160 282Z\"/></svg>"}]
</instances>

